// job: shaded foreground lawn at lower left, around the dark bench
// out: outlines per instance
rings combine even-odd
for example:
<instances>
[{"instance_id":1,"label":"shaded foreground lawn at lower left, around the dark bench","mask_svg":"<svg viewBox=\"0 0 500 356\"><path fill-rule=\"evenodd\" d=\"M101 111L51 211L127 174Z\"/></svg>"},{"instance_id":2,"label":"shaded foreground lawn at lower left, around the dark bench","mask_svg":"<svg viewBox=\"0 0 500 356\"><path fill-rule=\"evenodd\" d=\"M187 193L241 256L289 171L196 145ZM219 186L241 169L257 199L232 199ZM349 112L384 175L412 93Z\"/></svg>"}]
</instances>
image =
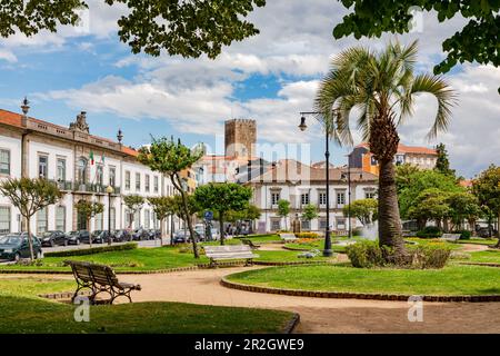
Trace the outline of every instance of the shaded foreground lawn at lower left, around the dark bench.
<instances>
[{"instance_id":1,"label":"shaded foreground lawn at lower left, around the dark bench","mask_svg":"<svg viewBox=\"0 0 500 356\"><path fill-rule=\"evenodd\" d=\"M0 334L50 333L279 333L291 313L182 303L92 306L90 322L77 323L74 307L36 297L72 290L74 281L0 278Z\"/></svg>"}]
</instances>

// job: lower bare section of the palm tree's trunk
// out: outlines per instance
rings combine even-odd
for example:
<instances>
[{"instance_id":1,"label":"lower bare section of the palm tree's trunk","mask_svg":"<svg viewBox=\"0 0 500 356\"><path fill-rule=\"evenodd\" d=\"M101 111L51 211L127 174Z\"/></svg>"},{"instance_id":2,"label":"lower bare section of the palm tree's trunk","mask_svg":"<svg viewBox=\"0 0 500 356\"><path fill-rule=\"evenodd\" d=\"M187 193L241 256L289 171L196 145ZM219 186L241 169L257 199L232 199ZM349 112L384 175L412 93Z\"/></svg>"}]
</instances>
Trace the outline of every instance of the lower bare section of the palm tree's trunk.
<instances>
[{"instance_id":1,"label":"lower bare section of the palm tree's trunk","mask_svg":"<svg viewBox=\"0 0 500 356\"><path fill-rule=\"evenodd\" d=\"M401 231L396 171L392 160L380 160L379 176L379 245L393 247L397 255L404 253Z\"/></svg>"}]
</instances>

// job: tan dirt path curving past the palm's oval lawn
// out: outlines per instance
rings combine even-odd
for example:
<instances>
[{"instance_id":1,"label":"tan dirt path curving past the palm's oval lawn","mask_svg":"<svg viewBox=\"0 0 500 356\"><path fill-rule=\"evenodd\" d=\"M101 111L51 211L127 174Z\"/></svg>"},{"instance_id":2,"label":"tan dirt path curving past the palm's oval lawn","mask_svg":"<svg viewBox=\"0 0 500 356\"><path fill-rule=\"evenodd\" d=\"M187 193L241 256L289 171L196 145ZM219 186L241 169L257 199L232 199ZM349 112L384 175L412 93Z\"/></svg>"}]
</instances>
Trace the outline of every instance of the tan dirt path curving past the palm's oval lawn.
<instances>
[{"instance_id":1,"label":"tan dirt path curving past the palm's oval lawn","mask_svg":"<svg viewBox=\"0 0 500 356\"><path fill-rule=\"evenodd\" d=\"M257 268L257 267L253 267ZM140 283L136 301L168 300L296 312L297 333L500 333L499 303L426 303L423 322L408 322L408 304L357 299L322 299L228 289L224 275L248 268L219 268L166 275L128 275Z\"/></svg>"}]
</instances>

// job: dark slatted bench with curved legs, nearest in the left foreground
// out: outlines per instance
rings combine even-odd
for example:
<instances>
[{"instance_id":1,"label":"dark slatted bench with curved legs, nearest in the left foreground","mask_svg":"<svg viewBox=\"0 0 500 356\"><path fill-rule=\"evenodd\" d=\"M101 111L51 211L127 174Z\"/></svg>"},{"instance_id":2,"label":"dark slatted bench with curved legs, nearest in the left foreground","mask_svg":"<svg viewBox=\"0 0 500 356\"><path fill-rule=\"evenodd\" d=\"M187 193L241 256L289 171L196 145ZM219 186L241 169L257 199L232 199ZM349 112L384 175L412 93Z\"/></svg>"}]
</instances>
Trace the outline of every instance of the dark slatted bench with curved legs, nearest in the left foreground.
<instances>
[{"instance_id":1,"label":"dark slatted bench with curved legs, nearest in the left foreground","mask_svg":"<svg viewBox=\"0 0 500 356\"><path fill-rule=\"evenodd\" d=\"M104 265L97 265L86 261L64 260L66 265L71 266L74 279L77 281L77 290L71 298L74 301L81 289L90 289L90 304L113 304L114 299L124 296L132 301L130 293L132 290L141 290L140 285L119 281L114 270ZM96 297L106 293L109 299L97 300Z\"/></svg>"}]
</instances>

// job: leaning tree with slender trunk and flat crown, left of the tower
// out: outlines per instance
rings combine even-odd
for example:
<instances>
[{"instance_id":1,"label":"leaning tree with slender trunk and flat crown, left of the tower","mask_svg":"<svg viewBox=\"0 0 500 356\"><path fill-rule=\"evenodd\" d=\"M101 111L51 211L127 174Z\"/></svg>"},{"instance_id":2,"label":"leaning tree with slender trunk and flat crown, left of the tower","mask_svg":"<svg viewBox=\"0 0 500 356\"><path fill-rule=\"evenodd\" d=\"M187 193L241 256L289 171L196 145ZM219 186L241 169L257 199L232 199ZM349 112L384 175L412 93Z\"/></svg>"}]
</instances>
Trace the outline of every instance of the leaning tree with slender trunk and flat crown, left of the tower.
<instances>
[{"instance_id":1,"label":"leaning tree with slender trunk and flat crown, left of the tower","mask_svg":"<svg viewBox=\"0 0 500 356\"><path fill-rule=\"evenodd\" d=\"M194 258L199 258L197 239L192 227L192 215L188 205L187 187L180 172L189 169L203 155L200 150L191 150L182 145L180 139L176 142L173 138L170 140L166 137L161 139L152 139L150 147L143 147L139 151L139 161L149 166L152 170L167 175L172 181L173 188L180 194L182 200L182 210L186 221L188 222L189 234L192 241L192 250Z\"/></svg>"}]
</instances>

